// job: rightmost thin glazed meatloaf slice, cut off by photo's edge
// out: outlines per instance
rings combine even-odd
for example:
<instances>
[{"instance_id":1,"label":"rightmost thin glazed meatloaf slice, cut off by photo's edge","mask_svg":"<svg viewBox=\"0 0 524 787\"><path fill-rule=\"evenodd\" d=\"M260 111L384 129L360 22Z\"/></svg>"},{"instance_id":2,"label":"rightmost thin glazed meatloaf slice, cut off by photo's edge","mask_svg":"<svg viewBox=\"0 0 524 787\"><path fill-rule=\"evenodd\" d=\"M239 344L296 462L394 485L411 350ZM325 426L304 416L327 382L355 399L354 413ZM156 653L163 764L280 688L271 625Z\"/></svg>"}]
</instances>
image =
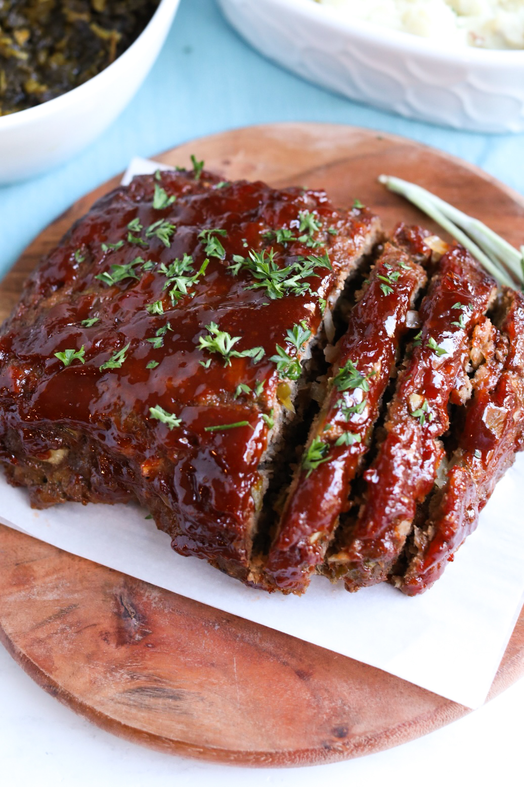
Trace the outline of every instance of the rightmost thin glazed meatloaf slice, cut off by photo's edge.
<instances>
[{"instance_id":1,"label":"rightmost thin glazed meatloaf slice, cut off by photo's edge","mask_svg":"<svg viewBox=\"0 0 524 787\"><path fill-rule=\"evenodd\" d=\"M409 596L423 593L477 527L478 514L524 441L524 297L504 290L504 320L475 375L464 428L447 482L435 490L430 516L406 545L408 567L393 576ZM486 353L487 354L487 353Z\"/></svg>"}]
</instances>

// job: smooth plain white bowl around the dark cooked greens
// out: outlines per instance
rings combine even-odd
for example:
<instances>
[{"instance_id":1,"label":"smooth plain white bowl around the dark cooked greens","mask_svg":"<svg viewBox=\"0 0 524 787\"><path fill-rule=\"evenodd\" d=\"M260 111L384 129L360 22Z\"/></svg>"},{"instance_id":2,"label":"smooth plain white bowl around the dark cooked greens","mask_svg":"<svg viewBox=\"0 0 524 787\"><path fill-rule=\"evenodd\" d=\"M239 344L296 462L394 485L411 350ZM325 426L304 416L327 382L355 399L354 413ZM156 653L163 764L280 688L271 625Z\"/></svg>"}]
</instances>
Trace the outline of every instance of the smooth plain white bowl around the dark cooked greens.
<instances>
[{"instance_id":1,"label":"smooth plain white bowl around the dark cooked greens","mask_svg":"<svg viewBox=\"0 0 524 787\"><path fill-rule=\"evenodd\" d=\"M133 98L166 39L180 0L162 0L120 57L74 90L0 117L0 183L13 183L66 161L96 139Z\"/></svg>"}]
</instances>

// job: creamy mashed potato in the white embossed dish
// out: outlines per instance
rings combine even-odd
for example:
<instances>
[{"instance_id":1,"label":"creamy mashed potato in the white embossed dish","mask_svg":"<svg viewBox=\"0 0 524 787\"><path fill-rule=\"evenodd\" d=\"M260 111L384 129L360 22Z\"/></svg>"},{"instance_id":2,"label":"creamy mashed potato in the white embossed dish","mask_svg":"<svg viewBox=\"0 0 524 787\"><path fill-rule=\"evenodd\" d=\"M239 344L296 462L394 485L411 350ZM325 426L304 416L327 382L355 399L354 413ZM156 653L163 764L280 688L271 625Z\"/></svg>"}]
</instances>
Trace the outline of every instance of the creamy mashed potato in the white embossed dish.
<instances>
[{"instance_id":1,"label":"creamy mashed potato in the white embossed dish","mask_svg":"<svg viewBox=\"0 0 524 787\"><path fill-rule=\"evenodd\" d=\"M524 0L316 0L351 19L445 46L524 49Z\"/></svg>"}]
</instances>

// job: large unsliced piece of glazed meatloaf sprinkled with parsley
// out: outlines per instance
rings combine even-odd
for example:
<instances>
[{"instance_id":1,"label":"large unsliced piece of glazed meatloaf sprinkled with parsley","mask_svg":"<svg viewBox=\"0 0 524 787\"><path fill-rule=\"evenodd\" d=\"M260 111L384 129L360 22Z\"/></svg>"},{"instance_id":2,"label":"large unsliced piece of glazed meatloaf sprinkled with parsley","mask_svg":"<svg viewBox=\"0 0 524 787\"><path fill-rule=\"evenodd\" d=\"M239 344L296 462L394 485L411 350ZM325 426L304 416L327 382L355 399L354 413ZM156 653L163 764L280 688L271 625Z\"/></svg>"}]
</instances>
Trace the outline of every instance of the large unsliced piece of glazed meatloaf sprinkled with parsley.
<instances>
[{"instance_id":1,"label":"large unsliced piece of glazed meatloaf sprinkled with parsley","mask_svg":"<svg viewBox=\"0 0 524 787\"><path fill-rule=\"evenodd\" d=\"M0 460L37 508L137 499L246 580L308 346L379 235L324 192L158 172L42 260L0 333Z\"/></svg>"}]
</instances>

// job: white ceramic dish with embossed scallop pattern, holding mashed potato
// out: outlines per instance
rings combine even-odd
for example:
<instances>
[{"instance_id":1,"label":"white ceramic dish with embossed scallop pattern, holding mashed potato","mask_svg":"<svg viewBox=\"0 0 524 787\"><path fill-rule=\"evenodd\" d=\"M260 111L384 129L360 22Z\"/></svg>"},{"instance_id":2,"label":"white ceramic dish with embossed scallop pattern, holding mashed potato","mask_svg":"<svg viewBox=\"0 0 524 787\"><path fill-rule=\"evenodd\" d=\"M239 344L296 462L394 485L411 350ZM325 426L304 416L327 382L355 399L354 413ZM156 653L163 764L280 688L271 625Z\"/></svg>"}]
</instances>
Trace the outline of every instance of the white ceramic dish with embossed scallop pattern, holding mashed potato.
<instances>
[{"instance_id":1,"label":"white ceramic dish with embossed scallop pattern, holding mashed potato","mask_svg":"<svg viewBox=\"0 0 524 787\"><path fill-rule=\"evenodd\" d=\"M524 131L524 51L445 50L311 0L218 0L262 54L379 109L468 131Z\"/></svg>"}]
</instances>

